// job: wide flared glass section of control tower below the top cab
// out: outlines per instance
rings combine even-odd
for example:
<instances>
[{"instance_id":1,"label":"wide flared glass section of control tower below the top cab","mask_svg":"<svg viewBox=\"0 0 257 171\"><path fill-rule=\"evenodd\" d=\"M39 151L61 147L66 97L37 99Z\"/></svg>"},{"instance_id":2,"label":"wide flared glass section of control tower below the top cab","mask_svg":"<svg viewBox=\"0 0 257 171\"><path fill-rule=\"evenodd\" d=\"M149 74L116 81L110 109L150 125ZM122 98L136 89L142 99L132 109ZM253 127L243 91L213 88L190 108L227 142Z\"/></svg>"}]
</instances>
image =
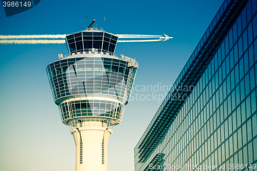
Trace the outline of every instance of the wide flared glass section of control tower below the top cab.
<instances>
[{"instance_id":1,"label":"wide flared glass section of control tower below the top cab","mask_svg":"<svg viewBox=\"0 0 257 171\"><path fill-rule=\"evenodd\" d=\"M88 116L121 120L124 94L127 93L127 103L137 70L132 69L132 84L126 90L128 63L117 57L89 56L64 58L49 64L46 70L62 121L68 124L72 118Z\"/></svg>"}]
</instances>

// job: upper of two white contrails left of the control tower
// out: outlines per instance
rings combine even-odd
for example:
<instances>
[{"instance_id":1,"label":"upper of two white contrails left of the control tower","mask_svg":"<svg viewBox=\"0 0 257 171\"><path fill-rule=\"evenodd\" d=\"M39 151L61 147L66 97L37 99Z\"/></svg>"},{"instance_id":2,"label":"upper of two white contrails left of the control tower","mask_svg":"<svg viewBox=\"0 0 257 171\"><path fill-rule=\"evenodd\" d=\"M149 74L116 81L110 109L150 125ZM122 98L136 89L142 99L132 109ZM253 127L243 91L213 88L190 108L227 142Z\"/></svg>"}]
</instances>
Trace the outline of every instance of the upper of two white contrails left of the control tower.
<instances>
[{"instance_id":1,"label":"upper of two white contrails left of the control tower","mask_svg":"<svg viewBox=\"0 0 257 171\"><path fill-rule=\"evenodd\" d=\"M59 39L66 38L66 34L56 34L56 35L0 35L0 39Z\"/></svg>"}]
</instances>

